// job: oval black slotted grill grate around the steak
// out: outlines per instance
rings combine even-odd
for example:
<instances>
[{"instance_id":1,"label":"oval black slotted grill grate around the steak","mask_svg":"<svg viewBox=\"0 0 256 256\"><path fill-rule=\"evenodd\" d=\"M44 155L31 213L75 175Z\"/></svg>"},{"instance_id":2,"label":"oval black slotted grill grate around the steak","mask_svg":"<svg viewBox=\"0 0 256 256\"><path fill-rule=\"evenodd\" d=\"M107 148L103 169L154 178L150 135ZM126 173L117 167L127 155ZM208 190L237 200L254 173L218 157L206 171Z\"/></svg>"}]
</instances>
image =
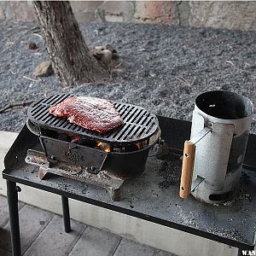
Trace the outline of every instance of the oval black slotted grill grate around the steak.
<instances>
[{"instance_id":1,"label":"oval black slotted grill grate around the steak","mask_svg":"<svg viewBox=\"0 0 256 256\"><path fill-rule=\"evenodd\" d=\"M156 116L146 109L131 104L113 103L124 120L124 125L100 134L96 131L89 131L79 125L71 124L67 118L55 117L49 113L49 107L56 105L72 95L58 94L49 96L33 102L28 108L28 119L34 125L44 129L64 131L73 135L93 138L105 143L135 143L146 140L159 129Z\"/></svg>"}]
</instances>

